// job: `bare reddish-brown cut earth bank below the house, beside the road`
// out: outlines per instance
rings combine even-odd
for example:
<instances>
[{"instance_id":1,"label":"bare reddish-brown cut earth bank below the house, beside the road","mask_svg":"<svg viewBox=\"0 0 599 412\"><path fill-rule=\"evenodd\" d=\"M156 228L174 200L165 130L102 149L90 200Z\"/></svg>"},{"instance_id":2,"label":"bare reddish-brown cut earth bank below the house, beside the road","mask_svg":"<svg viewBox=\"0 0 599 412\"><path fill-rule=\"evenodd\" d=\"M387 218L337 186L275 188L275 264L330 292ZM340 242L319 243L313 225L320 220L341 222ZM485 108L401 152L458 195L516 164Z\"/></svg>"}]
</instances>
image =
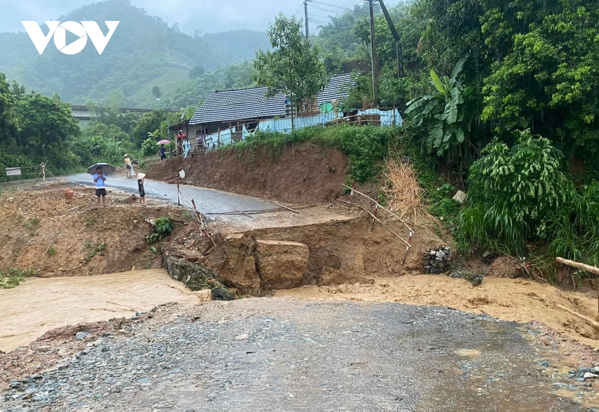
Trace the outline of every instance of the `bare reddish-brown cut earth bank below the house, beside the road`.
<instances>
[{"instance_id":1,"label":"bare reddish-brown cut earth bank below the house, beside the road","mask_svg":"<svg viewBox=\"0 0 599 412\"><path fill-rule=\"evenodd\" d=\"M347 156L338 149L302 143L240 152L229 148L156 163L146 178L225 190L285 202L331 201L341 194Z\"/></svg>"}]
</instances>

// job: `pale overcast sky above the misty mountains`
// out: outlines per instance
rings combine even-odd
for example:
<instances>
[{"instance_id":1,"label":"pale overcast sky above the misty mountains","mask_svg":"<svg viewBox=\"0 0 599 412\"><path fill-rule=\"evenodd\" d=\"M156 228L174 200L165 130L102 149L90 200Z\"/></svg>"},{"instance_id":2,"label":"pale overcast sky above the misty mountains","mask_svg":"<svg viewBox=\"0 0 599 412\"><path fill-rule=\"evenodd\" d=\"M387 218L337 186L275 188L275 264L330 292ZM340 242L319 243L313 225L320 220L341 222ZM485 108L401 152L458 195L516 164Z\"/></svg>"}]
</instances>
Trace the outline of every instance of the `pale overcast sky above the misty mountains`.
<instances>
[{"instance_id":1,"label":"pale overcast sky above the misty mountains","mask_svg":"<svg viewBox=\"0 0 599 412\"><path fill-rule=\"evenodd\" d=\"M319 0L329 4L310 4L313 26L326 22L326 16L338 14L353 7L360 0ZM86 0L0 0L0 32L24 31L21 20L42 23L55 20L69 11L95 1ZM304 16L303 0L132 0L135 7L143 8L152 16L161 17L170 25L179 23L181 31L191 34L194 29L204 33L234 29L266 31L268 23L283 11L286 16L299 12ZM334 5L337 7L331 7ZM320 10L319 10L320 9ZM325 9L325 10L322 10ZM315 27L314 27L315 28Z\"/></svg>"}]
</instances>

